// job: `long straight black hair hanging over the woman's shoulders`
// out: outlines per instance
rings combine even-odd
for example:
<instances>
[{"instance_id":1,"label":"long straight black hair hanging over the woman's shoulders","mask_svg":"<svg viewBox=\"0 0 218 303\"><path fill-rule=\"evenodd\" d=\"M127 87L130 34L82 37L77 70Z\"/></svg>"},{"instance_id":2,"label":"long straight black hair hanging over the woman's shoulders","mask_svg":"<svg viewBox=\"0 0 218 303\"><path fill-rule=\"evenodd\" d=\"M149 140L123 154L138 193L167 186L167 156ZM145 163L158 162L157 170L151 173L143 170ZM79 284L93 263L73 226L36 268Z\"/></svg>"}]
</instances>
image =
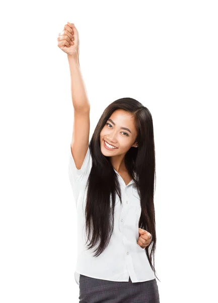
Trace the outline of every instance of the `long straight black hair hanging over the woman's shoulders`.
<instances>
[{"instance_id":1,"label":"long straight black hair hanging over the woman's shoulders","mask_svg":"<svg viewBox=\"0 0 218 303\"><path fill-rule=\"evenodd\" d=\"M156 228L154 208L154 182L155 172L155 143L153 119L150 111L133 98L120 98L111 103L103 112L89 143L92 157L92 169L87 181L86 200L86 233L88 240L92 230L92 239L88 249L95 249L98 257L109 244L114 227L114 206L116 193L121 204L121 191L118 177L110 162L101 152L100 133L115 110L122 109L134 115L137 130L136 142L138 147L130 147L125 154L125 167L135 181L140 196L141 215L138 227L146 229L152 234L152 242L145 248L149 263L155 273ZM110 204L112 199L112 207ZM88 242L87 240L87 242ZM86 243L87 243L86 242ZM149 251L149 249L151 251ZM152 264L154 259L154 265ZM157 276L156 276L157 277ZM160 280L159 280L160 281Z\"/></svg>"}]
</instances>

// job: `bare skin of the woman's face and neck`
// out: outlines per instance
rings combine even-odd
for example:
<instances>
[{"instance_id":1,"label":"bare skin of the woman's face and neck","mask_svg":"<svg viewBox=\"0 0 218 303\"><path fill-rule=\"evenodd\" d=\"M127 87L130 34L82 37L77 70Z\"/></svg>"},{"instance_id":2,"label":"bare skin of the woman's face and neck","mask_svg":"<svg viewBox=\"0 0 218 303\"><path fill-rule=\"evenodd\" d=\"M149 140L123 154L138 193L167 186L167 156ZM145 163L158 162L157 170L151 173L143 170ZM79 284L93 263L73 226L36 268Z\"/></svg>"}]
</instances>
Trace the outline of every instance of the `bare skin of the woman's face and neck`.
<instances>
[{"instance_id":1,"label":"bare skin of the woman's face and neck","mask_svg":"<svg viewBox=\"0 0 218 303\"><path fill-rule=\"evenodd\" d=\"M127 172L124 164L124 157L131 146L135 147L137 142L137 131L134 125L134 116L124 110L116 110L110 116L111 121L107 121L100 133L101 152L104 156L110 157L111 164L118 173ZM120 129L121 127L128 128L127 130ZM109 144L118 147L117 149L107 150L104 147L104 140ZM136 147L137 148L137 147Z\"/></svg>"}]
</instances>

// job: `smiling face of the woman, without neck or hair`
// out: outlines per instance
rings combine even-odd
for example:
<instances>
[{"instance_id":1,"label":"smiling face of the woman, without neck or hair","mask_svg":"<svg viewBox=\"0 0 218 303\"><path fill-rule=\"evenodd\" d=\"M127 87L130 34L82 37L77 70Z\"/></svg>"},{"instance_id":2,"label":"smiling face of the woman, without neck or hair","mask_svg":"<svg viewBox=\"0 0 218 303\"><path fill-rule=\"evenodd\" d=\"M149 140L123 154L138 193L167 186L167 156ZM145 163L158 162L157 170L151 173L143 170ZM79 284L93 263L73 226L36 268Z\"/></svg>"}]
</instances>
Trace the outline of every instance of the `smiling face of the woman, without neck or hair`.
<instances>
[{"instance_id":1,"label":"smiling face of the woman, without neck or hair","mask_svg":"<svg viewBox=\"0 0 218 303\"><path fill-rule=\"evenodd\" d=\"M134 116L129 112L118 109L113 112L101 130L101 152L107 157L126 154L131 146L136 145L136 136ZM111 145L116 148L111 148Z\"/></svg>"}]
</instances>

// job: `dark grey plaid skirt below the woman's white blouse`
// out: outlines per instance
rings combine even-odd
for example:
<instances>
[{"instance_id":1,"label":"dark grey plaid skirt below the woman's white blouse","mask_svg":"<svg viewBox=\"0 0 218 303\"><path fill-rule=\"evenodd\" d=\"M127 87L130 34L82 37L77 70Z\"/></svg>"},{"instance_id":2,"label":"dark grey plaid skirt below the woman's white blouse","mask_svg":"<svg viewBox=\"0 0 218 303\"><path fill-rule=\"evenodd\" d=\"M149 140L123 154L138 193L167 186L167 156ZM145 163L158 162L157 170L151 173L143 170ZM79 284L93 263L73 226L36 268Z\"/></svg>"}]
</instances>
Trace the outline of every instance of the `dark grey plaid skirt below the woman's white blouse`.
<instances>
[{"instance_id":1,"label":"dark grey plaid skirt below the woman's white blouse","mask_svg":"<svg viewBox=\"0 0 218 303\"><path fill-rule=\"evenodd\" d=\"M160 303L156 279L132 283L95 279L80 274L79 303Z\"/></svg>"}]
</instances>

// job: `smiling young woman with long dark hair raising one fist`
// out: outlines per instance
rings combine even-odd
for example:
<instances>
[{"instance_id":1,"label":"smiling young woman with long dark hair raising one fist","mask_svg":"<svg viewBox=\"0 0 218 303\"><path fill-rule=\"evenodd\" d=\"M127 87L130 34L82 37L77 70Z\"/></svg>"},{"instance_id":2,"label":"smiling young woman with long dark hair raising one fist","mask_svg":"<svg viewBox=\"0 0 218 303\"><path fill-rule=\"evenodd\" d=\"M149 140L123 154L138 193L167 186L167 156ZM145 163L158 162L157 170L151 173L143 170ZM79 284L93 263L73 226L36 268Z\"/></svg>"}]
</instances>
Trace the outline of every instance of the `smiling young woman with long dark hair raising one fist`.
<instances>
[{"instance_id":1,"label":"smiling young woman with long dark hair raising one fist","mask_svg":"<svg viewBox=\"0 0 218 303\"><path fill-rule=\"evenodd\" d=\"M67 54L74 106L69 180L78 213L80 302L158 303L152 115L133 98L115 100L89 143L90 104L75 25L67 22L57 40Z\"/></svg>"}]
</instances>

